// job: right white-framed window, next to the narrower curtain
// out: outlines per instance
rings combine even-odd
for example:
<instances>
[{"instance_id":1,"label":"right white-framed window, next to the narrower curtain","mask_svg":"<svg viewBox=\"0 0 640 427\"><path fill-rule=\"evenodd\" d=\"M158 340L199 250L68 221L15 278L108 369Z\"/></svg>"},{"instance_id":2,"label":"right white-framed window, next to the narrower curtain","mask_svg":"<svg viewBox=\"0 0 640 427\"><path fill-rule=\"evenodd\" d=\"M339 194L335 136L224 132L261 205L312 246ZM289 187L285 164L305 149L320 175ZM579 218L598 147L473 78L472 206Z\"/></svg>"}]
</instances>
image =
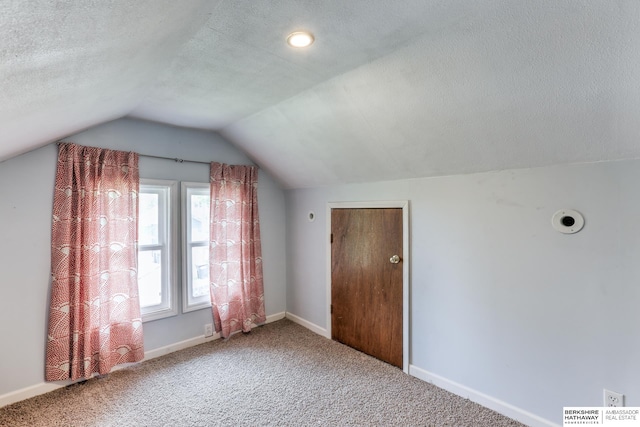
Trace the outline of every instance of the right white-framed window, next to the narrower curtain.
<instances>
[{"instance_id":1,"label":"right white-framed window, next to the narrower curtain","mask_svg":"<svg viewBox=\"0 0 640 427\"><path fill-rule=\"evenodd\" d=\"M182 183L183 311L211 306L209 296L209 184Z\"/></svg>"}]
</instances>

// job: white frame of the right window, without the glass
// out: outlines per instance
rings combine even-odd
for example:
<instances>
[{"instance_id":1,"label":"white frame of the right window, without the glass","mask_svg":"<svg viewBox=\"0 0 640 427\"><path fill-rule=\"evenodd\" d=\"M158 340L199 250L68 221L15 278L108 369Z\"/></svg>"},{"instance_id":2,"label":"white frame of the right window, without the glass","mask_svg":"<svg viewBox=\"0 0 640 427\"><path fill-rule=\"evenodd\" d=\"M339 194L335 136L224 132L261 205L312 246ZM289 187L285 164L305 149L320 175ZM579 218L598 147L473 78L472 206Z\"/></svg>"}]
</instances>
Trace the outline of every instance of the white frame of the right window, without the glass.
<instances>
[{"instance_id":1,"label":"white frame of the right window, without the glass","mask_svg":"<svg viewBox=\"0 0 640 427\"><path fill-rule=\"evenodd\" d=\"M182 312L202 310L211 307L211 298L202 297L195 302L190 297L193 288L191 270L191 248L207 246L209 242L191 241L191 200L192 194L211 194L211 184L208 182L185 182L180 186L180 205L182 207Z\"/></svg>"}]
</instances>

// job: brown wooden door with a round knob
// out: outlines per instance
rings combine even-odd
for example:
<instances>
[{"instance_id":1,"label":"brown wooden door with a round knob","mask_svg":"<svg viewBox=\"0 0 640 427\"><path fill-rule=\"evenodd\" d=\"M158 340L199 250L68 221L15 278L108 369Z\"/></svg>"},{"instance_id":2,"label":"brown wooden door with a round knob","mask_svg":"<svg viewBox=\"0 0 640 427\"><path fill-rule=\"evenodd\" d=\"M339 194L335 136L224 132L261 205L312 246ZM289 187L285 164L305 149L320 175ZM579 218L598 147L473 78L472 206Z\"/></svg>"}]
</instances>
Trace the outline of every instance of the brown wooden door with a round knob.
<instances>
[{"instance_id":1,"label":"brown wooden door with a round knob","mask_svg":"<svg viewBox=\"0 0 640 427\"><path fill-rule=\"evenodd\" d=\"M402 209L332 209L331 234L332 338L402 368Z\"/></svg>"}]
</instances>

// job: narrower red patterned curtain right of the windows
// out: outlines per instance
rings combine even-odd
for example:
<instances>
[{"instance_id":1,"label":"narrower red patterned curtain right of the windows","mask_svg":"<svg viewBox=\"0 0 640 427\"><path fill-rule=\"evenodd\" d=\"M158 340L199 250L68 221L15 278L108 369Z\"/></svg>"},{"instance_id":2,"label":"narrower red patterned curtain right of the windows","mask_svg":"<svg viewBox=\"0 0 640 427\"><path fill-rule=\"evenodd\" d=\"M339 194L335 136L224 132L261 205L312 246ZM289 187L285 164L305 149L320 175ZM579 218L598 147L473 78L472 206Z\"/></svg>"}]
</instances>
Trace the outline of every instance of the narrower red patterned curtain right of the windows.
<instances>
[{"instance_id":1,"label":"narrower red patterned curtain right of the windows","mask_svg":"<svg viewBox=\"0 0 640 427\"><path fill-rule=\"evenodd\" d=\"M266 321L258 168L211 163L211 307L224 338Z\"/></svg>"}]
</instances>

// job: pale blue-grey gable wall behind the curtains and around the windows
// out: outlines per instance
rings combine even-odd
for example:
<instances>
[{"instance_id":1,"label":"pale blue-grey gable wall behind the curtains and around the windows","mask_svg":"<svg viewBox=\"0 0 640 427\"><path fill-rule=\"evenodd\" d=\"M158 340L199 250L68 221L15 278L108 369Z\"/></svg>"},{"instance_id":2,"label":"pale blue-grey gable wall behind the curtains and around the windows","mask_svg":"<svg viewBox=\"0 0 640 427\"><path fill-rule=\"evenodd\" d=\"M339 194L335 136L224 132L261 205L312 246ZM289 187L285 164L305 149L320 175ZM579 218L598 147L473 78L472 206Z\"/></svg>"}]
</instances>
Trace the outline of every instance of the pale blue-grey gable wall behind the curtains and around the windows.
<instances>
[{"instance_id":1,"label":"pale blue-grey gable wall behind the curtains and around the windows","mask_svg":"<svg viewBox=\"0 0 640 427\"><path fill-rule=\"evenodd\" d=\"M91 128L65 141L171 158L251 164L216 133L130 119ZM56 157L57 147L50 144L0 163L0 396L44 381ZM208 182L209 167L141 157L140 176ZM279 184L263 170L258 199L265 305L267 315L272 315L284 312L286 305L285 199ZM203 325L211 322L208 309L147 322L145 350L202 336Z\"/></svg>"}]
</instances>

